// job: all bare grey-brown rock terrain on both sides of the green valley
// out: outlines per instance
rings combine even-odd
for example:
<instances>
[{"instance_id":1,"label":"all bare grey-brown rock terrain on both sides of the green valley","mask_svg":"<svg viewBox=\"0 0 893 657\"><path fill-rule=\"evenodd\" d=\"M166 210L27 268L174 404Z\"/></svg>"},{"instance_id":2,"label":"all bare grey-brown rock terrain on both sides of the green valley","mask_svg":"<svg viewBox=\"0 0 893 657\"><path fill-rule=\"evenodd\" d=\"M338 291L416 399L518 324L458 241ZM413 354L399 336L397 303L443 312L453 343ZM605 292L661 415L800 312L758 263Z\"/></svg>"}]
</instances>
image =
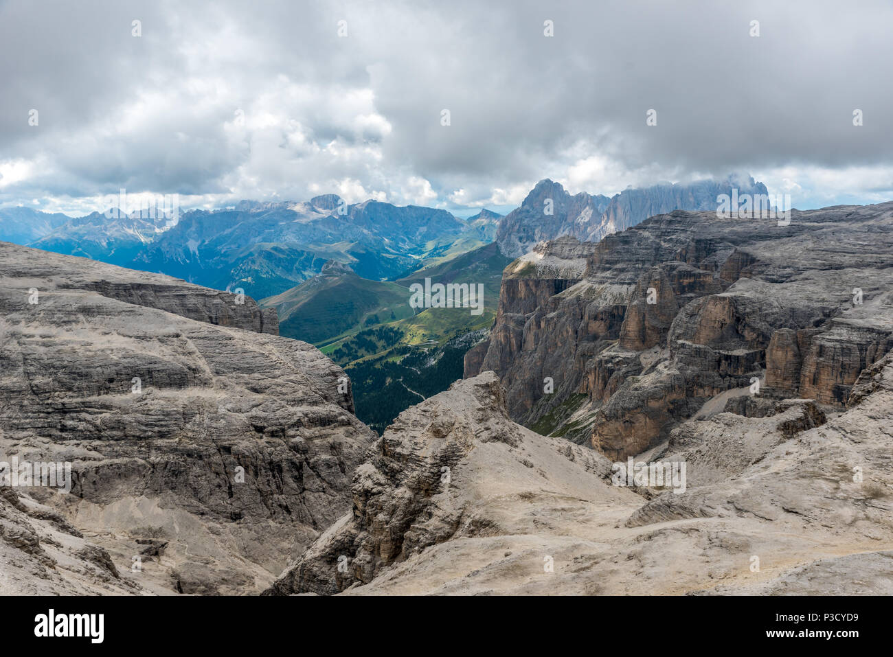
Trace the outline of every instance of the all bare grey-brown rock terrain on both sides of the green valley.
<instances>
[{"instance_id":1,"label":"all bare grey-brown rock terrain on both sides of the green valley","mask_svg":"<svg viewBox=\"0 0 893 657\"><path fill-rule=\"evenodd\" d=\"M250 297L0 243L0 462L71 473L0 594L891 595L893 203L789 219L537 245L380 436Z\"/></svg>"}]
</instances>

